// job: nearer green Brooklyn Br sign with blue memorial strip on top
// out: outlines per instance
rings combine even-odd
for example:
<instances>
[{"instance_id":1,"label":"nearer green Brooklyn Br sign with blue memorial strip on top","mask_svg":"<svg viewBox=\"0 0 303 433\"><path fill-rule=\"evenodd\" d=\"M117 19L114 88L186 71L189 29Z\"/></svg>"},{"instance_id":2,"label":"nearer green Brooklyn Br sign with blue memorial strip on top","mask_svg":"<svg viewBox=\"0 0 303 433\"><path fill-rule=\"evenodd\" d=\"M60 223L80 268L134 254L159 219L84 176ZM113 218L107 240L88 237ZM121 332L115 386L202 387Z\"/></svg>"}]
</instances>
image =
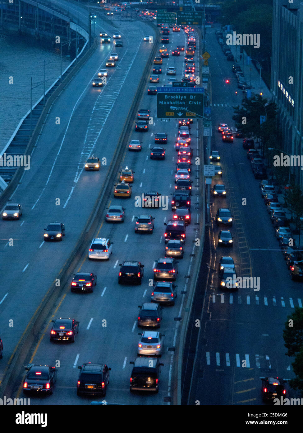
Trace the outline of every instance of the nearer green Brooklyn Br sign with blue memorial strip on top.
<instances>
[{"instance_id":1,"label":"nearer green Brooklyn Br sign with blue memorial strip on top","mask_svg":"<svg viewBox=\"0 0 303 433\"><path fill-rule=\"evenodd\" d=\"M203 116L203 87L157 87L158 119L201 119Z\"/></svg>"}]
</instances>

